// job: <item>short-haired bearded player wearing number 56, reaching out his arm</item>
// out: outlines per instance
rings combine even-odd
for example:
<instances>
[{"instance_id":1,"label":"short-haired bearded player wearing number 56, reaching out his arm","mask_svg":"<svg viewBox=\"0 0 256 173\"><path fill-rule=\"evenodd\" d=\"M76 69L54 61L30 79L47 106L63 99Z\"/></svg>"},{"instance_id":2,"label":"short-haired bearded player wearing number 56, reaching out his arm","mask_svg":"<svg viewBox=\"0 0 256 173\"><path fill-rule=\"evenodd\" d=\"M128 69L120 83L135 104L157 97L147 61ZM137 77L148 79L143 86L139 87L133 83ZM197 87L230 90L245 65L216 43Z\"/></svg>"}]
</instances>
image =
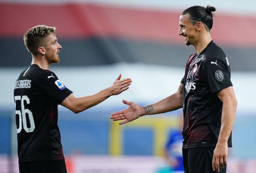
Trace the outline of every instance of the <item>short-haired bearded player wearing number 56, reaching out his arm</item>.
<instances>
[{"instance_id":1,"label":"short-haired bearded player wearing number 56, reaching out his arm","mask_svg":"<svg viewBox=\"0 0 256 173\"><path fill-rule=\"evenodd\" d=\"M74 97L57 75L48 70L52 63L59 62L61 45L55 29L38 25L24 34L32 62L20 73L14 87L20 173L66 173L57 124L58 105L79 113L122 93L132 82L130 78L120 80L119 74L110 87L93 95Z\"/></svg>"}]
</instances>

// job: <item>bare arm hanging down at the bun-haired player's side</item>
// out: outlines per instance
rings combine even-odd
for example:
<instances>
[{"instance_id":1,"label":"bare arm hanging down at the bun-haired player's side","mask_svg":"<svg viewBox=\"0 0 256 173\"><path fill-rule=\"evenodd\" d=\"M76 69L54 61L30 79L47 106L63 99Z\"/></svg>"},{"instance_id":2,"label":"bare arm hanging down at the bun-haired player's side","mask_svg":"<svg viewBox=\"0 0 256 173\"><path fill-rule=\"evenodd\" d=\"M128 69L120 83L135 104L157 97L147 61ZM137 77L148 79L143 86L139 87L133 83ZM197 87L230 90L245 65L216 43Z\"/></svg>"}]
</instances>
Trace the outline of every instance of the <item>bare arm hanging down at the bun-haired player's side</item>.
<instances>
[{"instance_id":1,"label":"bare arm hanging down at the bun-haired player's side","mask_svg":"<svg viewBox=\"0 0 256 173\"><path fill-rule=\"evenodd\" d=\"M233 87L227 87L218 91L219 99L223 102L221 115L221 128L216 148L214 150L212 168L219 172L219 164L222 168L227 166L228 138L230 136L237 109L237 100Z\"/></svg>"}]
</instances>

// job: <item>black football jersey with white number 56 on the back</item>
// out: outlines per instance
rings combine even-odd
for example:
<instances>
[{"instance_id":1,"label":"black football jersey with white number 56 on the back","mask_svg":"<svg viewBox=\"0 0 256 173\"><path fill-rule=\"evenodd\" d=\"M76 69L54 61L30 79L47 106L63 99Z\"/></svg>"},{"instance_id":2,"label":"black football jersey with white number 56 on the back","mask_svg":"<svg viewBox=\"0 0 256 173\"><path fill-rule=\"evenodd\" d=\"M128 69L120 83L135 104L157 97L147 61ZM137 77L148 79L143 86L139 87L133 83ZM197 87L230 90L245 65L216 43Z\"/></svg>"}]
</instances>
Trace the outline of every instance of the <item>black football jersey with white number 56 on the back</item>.
<instances>
[{"instance_id":1,"label":"black football jersey with white number 56 on the back","mask_svg":"<svg viewBox=\"0 0 256 173\"><path fill-rule=\"evenodd\" d=\"M71 93L53 72L36 64L20 74L14 86L19 163L64 159L58 105Z\"/></svg>"}]
</instances>

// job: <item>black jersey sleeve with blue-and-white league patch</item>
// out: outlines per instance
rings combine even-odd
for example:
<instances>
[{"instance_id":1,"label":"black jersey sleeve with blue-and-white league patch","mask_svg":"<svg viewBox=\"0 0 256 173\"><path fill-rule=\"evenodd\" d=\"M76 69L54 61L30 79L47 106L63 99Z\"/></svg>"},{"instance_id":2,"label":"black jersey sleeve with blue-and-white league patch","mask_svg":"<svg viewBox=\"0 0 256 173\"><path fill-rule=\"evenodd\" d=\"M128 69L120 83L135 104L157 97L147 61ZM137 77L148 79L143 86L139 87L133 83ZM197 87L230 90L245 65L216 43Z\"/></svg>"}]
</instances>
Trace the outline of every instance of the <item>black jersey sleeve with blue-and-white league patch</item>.
<instances>
[{"instance_id":1,"label":"black jersey sleeve with blue-and-white league patch","mask_svg":"<svg viewBox=\"0 0 256 173\"><path fill-rule=\"evenodd\" d=\"M58 105L67 98L72 91L70 91L55 75L55 73L45 72L37 81L44 93L54 100Z\"/></svg>"}]
</instances>

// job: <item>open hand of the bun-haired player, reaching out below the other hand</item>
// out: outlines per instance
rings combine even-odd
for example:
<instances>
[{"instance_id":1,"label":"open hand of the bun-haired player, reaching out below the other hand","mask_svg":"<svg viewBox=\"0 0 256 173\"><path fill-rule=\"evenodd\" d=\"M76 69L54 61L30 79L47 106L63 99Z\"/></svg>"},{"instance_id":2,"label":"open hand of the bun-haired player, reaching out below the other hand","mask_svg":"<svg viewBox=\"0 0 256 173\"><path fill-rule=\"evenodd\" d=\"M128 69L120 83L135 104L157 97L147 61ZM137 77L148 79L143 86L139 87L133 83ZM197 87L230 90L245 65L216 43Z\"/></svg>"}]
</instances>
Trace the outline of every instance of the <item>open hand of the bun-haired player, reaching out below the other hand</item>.
<instances>
[{"instance_id":1,"label":"open hand of the bun-haired player, reaching out below the other hand","mask_svg":"<svg viewBox=\"0 0 256 173\"><path fill-rule=\"evenodd\" d=\"M132 101L126 101L126 100L123 100L123 103L126 105L129 105L129 107L124 110L112 113L110 119L113 119L114 121L124 120L119 124L125 124L127 122L130 122L139 118L144 114L143 108L137 105L136 103Z\"/></svg>"}]
</instances>

